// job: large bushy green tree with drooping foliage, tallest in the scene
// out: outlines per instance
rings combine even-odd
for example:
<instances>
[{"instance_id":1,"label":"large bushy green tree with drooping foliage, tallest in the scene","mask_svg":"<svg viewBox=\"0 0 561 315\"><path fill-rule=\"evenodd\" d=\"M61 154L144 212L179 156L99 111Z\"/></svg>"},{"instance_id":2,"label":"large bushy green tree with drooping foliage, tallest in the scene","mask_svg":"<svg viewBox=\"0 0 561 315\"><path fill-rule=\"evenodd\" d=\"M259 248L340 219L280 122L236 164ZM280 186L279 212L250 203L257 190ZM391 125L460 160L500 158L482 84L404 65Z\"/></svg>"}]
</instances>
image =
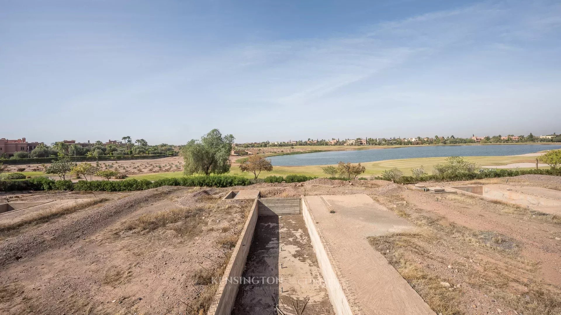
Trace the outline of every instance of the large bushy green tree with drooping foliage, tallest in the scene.
<instances>
[{"instance_id":1,"label":"large bushy green tree with drooping foliage, tallest in the scene","mask_svg":"<svg viewBox=\"0 0 561 315\"><path fill-rule=\"evenodd\" d=\"M218 129L212 129L201 140L191 140L181 149L183 155L183 173L209 175L223 174L230 171L230 152L234 136L225 135Z\"/></svg>"}]
</instances>

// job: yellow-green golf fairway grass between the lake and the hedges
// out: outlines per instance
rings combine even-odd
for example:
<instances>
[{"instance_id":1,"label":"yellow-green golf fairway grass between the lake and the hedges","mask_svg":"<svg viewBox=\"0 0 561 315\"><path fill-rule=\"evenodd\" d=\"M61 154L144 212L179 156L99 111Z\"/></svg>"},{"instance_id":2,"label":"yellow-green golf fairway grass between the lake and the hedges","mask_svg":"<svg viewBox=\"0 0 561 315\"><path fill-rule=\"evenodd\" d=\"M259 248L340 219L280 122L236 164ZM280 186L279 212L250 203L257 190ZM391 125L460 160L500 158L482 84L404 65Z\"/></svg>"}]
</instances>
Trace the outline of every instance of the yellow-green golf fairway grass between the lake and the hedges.
<instances>
[{"instance_id":1,"label":"yellow-green golf fairway grass between the lake and the hedges","mask_svg":"<svg viewBox=\"0 0 561 315\"><path fill-rule=\"evenodd\" d=\"M418 168L421 165L424 167L425 172L431 174L433 167L436 164L443 163L447 158L415 158L415 159L399 159L399 160L385 160L361 163L366 167L366 172L361 176L380 175L384 170L391 168L398 168L403 171L405 175L411 175L411 169ZM532 156L466 156L465 159L470 162L476 163L478 166L482 165L506 165L511 163L534 163L535 158ZM311 165L311 166L274 166L273 172L263 172L259 178L265 178L269 175L286 176L289 174L306 175L313 177L327 177L321 168L327 165ZM547 167L546 167L547 168ZM232 165L230 175L239 175L246 178L253 178L252 173L241 172L237 165ZM132 175L136 179L149 179L156 180L160 178L182 177L182 172L168 172L146 175Z\"/></svg>"}]
</instances>

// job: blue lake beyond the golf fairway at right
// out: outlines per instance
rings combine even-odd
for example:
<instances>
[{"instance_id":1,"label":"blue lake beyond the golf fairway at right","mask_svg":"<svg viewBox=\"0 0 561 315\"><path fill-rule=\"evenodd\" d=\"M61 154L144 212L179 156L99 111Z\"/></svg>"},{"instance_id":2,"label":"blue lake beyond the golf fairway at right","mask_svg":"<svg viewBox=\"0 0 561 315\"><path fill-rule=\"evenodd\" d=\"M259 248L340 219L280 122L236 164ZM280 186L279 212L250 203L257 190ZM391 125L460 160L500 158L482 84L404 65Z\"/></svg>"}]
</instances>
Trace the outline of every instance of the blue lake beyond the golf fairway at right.
<instances>
[{"instance_id":1,"label":"blue lake beyond the golf fairway at right","mask_svg":"<svg viewBox=\"0 0 561 315\"><path fill-rule=\"evenodd\" d=\"M310 147L313 150L314 147ZM383 160L438 158L446 156L499 156L519 155L543 150L561 149L560 145L459 145L459 146L409 146L391 149L353 151L324 151L303 154L271 156L273 165L302 166L328 165L339 161L364 163Z\"/></svg>"}]
</instances>

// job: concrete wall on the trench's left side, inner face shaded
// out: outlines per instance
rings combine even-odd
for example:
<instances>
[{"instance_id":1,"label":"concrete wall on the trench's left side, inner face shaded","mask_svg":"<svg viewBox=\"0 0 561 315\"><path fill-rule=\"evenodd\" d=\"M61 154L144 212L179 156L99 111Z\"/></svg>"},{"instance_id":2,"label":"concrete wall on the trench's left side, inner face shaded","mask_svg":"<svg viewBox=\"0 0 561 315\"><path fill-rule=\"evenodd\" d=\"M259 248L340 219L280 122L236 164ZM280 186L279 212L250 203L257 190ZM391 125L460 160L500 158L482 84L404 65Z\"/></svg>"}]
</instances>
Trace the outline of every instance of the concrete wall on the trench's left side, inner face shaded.
<instances>
[{"instance_id":1,"label":"concrete wall on the trench's left side, inner face shaded","mask_svg":"<svg viewBox=\"0 0 561 315\"><path fill-rule=\"evenodd\" d=\"M224 270L222 280L218 290L214 295L213 303L211 304L208 315L230 315L232 307L236 301L236 294L238 293L239 284L236 281L228 281L228 279L239 279L234 277L241 277L243 268L245 268L247 253L251 246L251 239L255 231L255 224L257 223L257 216L259 214L257 200L251 206L249 215L247 216L246 224L243 226L240 238L236 243L236 247L232 252L232 256Z\"/></svg>"}]
</instances>

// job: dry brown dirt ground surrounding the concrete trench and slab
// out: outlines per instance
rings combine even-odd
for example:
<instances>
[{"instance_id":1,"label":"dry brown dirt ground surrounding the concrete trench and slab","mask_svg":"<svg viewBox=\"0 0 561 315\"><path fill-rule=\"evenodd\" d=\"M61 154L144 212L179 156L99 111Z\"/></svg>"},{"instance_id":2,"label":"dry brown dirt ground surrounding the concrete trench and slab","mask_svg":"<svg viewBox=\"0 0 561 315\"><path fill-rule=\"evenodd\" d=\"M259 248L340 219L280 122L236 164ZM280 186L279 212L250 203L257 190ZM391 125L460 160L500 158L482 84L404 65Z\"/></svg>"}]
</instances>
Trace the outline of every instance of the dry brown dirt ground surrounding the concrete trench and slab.
<instances>
[{"instance_id":1,"label":"dry brown dirt ground surrounding the concrete trench and slab","mask_svg":"<svg viewBox=\"0 0 561 315\"><path fill-rule=\"evenodd\" d=\"M545 175L454 185L474 183L561 193L561 178ZM208 304L209 278L220 275L251 206L221 201L231 189L243 187L3 194L66 203L0 215L0 314L195 314L190 307ZM557 216L381 180L246 189L261 197L365 193L410 221L415 233L369 241L437 314L561 313Z\"/></svg>"}]
</instances>

